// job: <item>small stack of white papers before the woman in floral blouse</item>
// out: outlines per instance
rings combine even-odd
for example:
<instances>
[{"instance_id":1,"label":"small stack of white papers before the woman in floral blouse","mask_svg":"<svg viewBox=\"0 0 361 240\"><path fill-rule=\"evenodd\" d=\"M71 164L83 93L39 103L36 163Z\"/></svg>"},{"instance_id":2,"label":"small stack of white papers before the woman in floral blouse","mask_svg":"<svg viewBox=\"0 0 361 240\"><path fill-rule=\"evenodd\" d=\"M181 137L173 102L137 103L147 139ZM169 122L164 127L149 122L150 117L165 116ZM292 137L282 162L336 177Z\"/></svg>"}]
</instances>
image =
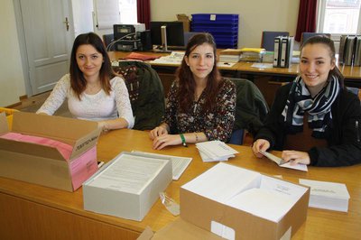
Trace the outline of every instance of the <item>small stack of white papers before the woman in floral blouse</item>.
<instances>
[{"instance_id":1,"label":"small stack of white papers before the woman in floral blouse","mask_svg":"<svg viewBox=\"0 0 361 240\"><path fill-rule=\"evenodd\" d=\"M235 149L218 140L196 143L203 162L227 161L238 153Z\"/></svg>"}]
</instances>

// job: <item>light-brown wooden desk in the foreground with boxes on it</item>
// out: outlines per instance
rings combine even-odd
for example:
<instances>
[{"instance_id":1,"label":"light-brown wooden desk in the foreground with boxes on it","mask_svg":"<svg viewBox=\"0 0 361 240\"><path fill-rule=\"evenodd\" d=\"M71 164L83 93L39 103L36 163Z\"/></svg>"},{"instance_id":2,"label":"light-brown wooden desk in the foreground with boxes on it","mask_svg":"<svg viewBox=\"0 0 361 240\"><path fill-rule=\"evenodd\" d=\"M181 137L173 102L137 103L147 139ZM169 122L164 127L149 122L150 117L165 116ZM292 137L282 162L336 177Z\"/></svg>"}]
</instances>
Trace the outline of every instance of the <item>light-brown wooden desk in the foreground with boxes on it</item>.
<instances>
[{"instance_id":1,"label":"light-brown wooden desk in the foreground with boxes on it","mask_svg":"<svg viewBox=\"0 0 361 240\"><path fill-rule=\"evenodd\" d=\"M309 208L305 224L292 239L359 239L361 235L361 165L345 168L309 168L308 172L283 169L266 159L256 159L250 147L236 146L240 153L230 164L265 174L282 175L284 180L300 178L328 180L347 184L350 193L348 213ZM153 151L147 132L116 130L100 137L99 160L105 162L122 151L159 152L190 156L193 161L178 181L166 192L177 202L180 186L207 171L216 162L201 162L194 144ZM71 193L18 180L0 178L0 239L135 239L145 226L159 230L176 219L160 200L142 222L85 211L82 189ZM260 229L261 230L261 229Z\"/></svg>"}]
</instances>

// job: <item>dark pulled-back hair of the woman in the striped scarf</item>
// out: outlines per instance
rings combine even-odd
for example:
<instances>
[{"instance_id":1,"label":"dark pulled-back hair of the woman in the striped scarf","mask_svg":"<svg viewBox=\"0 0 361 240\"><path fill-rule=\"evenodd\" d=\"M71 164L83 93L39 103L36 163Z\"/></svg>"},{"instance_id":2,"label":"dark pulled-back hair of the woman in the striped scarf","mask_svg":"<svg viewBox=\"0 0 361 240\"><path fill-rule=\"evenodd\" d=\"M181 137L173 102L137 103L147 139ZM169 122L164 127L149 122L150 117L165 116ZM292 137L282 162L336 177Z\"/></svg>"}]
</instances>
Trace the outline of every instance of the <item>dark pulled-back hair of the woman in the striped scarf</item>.
<instances>
[{"instance_id":1,"label":"dark pulled-back hair of the woman in the striped scarf","mask_svg":"<svg viewBox=\"0 0 361 240\"><path fill-rule=\"evenodd\" d=\"M323 44L326 47L329 48L329 57L331 58L331 60L335 61L336 64L336 51L335 51L335 43L326 35L317 35L314 37L310 37L306 42L303 42L303 44L301 45L301 53L302 53L302 49L309 45L309 44ZM335 76L336 78L338 78L338 83L339 86L341 88L344 88L345 84L344 84L344 76L342 75L341 71L338 69L338 66L335 66L334 69L329 71L329 76Z\"/></svg>"}]
</instances>

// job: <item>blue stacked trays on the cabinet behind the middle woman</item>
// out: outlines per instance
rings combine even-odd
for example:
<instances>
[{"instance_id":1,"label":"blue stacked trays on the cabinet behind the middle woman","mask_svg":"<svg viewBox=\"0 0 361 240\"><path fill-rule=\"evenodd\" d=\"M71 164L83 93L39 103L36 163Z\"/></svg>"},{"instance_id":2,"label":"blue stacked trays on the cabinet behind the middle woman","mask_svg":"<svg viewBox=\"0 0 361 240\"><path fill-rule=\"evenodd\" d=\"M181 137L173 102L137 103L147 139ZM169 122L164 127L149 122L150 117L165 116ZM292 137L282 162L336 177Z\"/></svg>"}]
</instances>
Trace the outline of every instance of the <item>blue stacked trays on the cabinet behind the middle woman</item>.
<instances>
[{"instance_id":1,"label":"blue stacked trays on the cabinet behind the middle woman","mask_svg":"<svg viewBox=\"0 0 361 240\"><path fill-rule=\"evenodd\" d=\"M192 32L209 32L218 48L238 45L238 14L192 14Z\"/></svg>"}]
</instances>

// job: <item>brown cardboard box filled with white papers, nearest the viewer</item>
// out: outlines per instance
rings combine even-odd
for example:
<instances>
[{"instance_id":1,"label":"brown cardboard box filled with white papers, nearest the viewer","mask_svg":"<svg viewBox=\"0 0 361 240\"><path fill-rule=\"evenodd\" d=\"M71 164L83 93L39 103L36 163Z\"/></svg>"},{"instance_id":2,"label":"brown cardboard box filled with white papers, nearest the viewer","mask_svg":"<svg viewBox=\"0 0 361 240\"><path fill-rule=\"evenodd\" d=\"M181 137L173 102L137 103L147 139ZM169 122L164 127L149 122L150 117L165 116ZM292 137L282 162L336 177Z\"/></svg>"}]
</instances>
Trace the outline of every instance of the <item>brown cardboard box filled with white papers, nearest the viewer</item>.
<instances>
[{"instance_id":1,"label":"brown cardboard box filled with white papers, nearest the viewer","mask_svg":"<svg viewBox=\"0 0 361 240\"><path fill-rule=\"evenodd\" d=\"M290 239L309 198L308 187L218 163L180 188L180 217L228 239Z\"/></svg>"}]
</instances>

